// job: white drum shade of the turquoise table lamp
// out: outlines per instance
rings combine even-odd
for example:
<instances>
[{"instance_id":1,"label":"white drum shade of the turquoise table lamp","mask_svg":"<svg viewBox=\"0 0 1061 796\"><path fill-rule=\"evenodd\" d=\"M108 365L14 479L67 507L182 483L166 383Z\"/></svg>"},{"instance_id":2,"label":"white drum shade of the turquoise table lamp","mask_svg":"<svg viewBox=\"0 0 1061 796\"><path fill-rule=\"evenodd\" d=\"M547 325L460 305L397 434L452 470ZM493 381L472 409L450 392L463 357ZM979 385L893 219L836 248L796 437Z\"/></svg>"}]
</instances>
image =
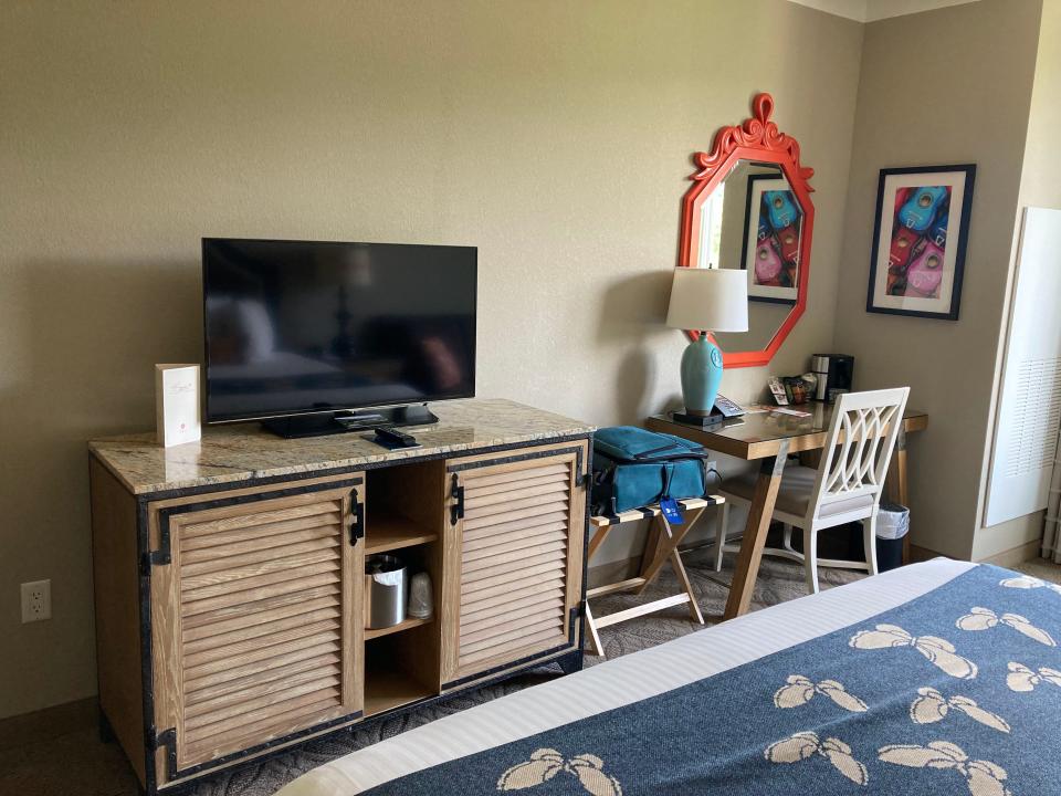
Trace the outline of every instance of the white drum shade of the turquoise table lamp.
<instances>
[{"instance_id":1,"label":"white drum shade of the turquoise table lamp","mask_svg":"<svg viewBox=\"0 0 1061 796\"><path fill-rule=\"evenodd\" d=\"M747 332L747 272L737 269L674 269L666 325L706 332Z\"/></svg>"}]
</instances>

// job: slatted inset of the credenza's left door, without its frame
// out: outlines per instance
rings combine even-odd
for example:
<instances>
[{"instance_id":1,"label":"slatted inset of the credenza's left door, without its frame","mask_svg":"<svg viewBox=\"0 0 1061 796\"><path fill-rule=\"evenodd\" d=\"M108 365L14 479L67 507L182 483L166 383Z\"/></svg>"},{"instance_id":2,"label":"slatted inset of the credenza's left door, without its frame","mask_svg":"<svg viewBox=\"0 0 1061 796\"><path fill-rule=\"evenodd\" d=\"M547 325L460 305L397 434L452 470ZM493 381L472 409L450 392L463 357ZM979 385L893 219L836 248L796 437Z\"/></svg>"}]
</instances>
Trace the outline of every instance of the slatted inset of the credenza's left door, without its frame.
<instances>
[{"instance_id":1,"label":"slatted inset of the credenza's left door, without its frame","mask_svg":"<svg viewBox=\"0 0 1061 796\"><path fill-rule=\"evenodd\" d=\"M343 515L333 498L181 527L179 767L342 708Z\"/></svg>"}]
</instances>

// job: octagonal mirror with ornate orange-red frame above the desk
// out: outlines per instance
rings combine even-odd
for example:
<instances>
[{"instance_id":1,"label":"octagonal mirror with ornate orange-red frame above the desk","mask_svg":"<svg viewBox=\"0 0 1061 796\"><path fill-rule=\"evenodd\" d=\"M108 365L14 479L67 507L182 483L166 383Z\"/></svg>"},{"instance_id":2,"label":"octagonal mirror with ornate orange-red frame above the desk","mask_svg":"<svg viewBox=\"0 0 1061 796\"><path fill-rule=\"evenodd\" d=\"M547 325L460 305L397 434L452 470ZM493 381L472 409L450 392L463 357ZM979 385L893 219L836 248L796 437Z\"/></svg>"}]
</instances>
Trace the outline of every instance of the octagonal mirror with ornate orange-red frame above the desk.
<instances>
[{"instance_id":1,"label":"octagonal mirror with ornate orange-red frame above the desk","mask_svg":"<svg viewBox=\"0 0 1061 796\"><path fill-rule=\"evenodd\" d=\"M715 134L710 154L693 156L700 170L682 199L677 264L748 274L748 332L715 335L727 368L770 362L803 314L810 282L815 170L770 121L774 97L758 94L752 108L753 118Z\"/></svg>"}]
</instances>

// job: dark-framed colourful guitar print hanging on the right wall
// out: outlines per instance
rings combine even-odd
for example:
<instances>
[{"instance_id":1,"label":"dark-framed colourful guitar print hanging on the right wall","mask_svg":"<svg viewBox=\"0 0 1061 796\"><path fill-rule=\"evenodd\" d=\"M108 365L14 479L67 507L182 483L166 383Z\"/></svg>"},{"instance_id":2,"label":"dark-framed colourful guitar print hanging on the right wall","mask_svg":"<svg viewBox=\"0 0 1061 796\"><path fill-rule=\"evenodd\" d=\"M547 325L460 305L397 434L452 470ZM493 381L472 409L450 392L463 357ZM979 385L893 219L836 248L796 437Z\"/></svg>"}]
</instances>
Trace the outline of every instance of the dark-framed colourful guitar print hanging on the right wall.
<instances>
[{"instance_id":1,"label":"dark-framed colourful guitar print hanging on the right wall","mask_svg":"<svg viewBox=\"0 0 1061 796\"><path fill-rule=\"evenodd\" d=\"M881 169L866 312L957 321L976 166Z\"/></svg>"}]
</instances>

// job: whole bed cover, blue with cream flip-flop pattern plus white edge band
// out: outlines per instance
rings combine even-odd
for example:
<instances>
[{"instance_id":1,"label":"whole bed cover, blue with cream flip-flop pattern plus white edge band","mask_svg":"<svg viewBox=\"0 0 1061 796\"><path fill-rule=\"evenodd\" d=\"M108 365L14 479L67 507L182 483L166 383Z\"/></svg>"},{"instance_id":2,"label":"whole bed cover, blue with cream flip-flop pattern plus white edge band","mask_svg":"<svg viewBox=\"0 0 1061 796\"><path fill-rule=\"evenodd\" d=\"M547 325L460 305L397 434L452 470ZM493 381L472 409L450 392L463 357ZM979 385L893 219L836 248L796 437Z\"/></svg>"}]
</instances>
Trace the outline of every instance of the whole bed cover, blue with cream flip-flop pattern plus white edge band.
<instances>
[{"instance_id":1,"label":"whole bed cover, blue with cream flip-flop pattern plus white edge band","mask_svg":"<svg viewBox=\"0 0 1061 796\"><path fill-rule=\"evenodd\" d=\"M283 792L1061 794L1061 587L931 562L435 722Z\"/></svg>"}]
</instances>

